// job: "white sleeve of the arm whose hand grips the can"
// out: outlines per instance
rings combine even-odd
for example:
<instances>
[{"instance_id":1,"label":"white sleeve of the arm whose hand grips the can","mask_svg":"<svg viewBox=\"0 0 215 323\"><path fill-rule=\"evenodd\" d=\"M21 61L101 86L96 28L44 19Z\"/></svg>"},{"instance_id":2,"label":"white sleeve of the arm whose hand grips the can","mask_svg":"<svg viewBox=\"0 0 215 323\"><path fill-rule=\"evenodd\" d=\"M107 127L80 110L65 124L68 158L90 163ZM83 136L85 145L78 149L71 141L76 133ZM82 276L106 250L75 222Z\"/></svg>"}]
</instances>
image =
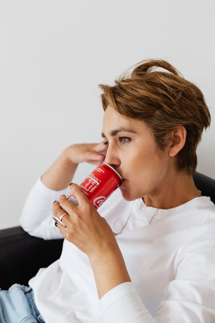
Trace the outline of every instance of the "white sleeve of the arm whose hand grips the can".
<instances>
[{"instance_id":1,"label":"white sleeve of the arm whose hand grips the can","mask_svg":"<svg viewBox=\"0 0 215 323\"><path fill-rule=\"evenodd\" d=\"M165 288L154 318L145 308L133 284L127 282L114 287L99 301L104 322L214 322L215 227L210 227L185 245L175 259L175 266L175 279Z\"/></svg>"}]
</instances>

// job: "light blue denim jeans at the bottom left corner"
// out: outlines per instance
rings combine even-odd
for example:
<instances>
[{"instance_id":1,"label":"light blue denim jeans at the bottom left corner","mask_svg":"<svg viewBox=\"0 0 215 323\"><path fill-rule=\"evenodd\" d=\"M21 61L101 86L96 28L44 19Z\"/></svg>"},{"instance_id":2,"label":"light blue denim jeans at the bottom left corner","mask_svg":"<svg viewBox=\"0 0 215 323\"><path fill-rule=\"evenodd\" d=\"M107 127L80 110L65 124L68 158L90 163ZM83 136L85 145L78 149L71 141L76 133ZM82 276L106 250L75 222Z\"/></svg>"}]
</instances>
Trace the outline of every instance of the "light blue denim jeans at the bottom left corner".
<instances>
[{"instance_id":1,"label":"light blue denim jeans at the bottom left corner","mask_svg":"<svg viewBox=\"0 0 215 323\"><path fill-rule=\"evenodd\" d=\"M0 322L45 323L31 287L14 284L8 290L0 290Z\"/></svg>"}]
</instances>

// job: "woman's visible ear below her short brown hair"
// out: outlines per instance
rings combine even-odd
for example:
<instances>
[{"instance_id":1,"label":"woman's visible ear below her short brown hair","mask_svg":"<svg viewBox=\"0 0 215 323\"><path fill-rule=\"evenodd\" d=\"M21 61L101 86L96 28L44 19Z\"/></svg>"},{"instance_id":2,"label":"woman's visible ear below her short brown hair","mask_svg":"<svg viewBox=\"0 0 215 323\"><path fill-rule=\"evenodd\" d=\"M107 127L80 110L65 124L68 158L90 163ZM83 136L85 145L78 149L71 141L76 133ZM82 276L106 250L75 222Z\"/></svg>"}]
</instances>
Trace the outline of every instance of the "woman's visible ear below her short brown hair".
<instances>
[{"instance_id":1,"label":"woman's visible ear below her short brown hair","mask_svg":"<svg viewBox=\"0 0 215 323\"><path fill-rule=\"evenodd\" d=\"M187 131L183 126L176 128L170 134L169 156L175 156L186 142Z\"/></svg>"}]
</instances>

